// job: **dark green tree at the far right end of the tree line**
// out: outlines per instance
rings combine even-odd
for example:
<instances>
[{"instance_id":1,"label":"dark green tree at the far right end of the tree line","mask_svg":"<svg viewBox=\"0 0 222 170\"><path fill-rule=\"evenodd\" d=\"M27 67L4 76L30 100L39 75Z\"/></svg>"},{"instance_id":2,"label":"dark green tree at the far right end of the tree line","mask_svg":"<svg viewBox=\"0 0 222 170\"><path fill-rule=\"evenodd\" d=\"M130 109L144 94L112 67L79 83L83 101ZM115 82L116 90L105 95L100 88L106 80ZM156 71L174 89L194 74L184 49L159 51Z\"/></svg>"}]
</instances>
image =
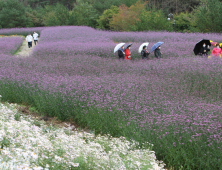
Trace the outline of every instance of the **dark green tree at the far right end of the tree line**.
<instances>
[{"instance_id":1,"label":"dark green tree at the far right end of the tree line","mask_svg":"<svg viewBox=\"0 0 222 170\"><path fill-rule=\"evenodd\" d=\"M221 32L222 2L219 0L202 0L195 9L196 24L202 32Z\"/></svg>"}]
</instances>

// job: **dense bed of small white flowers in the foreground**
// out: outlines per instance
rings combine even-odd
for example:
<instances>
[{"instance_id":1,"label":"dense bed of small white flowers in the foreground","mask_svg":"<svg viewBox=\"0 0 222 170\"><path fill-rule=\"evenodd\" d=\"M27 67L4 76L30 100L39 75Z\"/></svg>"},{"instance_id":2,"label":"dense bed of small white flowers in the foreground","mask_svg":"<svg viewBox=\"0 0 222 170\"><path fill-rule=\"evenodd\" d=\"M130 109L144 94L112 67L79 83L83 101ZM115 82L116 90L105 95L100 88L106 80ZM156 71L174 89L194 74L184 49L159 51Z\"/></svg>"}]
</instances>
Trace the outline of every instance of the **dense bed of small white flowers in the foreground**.
<instances>
[{"instance_id":1,"label":"dense bed of small white flowers in the foreground","mask_svg":"<svg viewBox=\"0 0 222 170\"><path fill-rule=\"evenodd\" d=\"M9 108L10 107L10 108ZM135 149L134 141L97 136L69 128L35 126L21 115L18 121L14 105L0 103L0 169L163 169L153 151ZM69 132L67 134L67 131Z\"/></svg>"}]
</instances>

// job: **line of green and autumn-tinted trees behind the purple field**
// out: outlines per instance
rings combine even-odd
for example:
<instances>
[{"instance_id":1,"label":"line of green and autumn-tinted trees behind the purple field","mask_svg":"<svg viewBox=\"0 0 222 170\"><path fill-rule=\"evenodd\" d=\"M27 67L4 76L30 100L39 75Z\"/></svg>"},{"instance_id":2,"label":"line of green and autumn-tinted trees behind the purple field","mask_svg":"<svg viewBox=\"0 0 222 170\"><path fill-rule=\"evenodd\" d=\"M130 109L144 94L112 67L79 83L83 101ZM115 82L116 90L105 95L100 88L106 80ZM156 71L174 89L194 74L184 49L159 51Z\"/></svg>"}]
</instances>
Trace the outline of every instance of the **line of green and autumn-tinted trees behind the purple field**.
<instances>
[{"instance_id":1,"label":"line of green and autumn-tinted trees behind the purple field","mask_svg":"<svg viewBox=\"0 0 222 170\"><path fill-rule=\"evenodd\" d=\"M221 32L222 0L0 0L0 28Z\"/></svg>"}]
</instances>

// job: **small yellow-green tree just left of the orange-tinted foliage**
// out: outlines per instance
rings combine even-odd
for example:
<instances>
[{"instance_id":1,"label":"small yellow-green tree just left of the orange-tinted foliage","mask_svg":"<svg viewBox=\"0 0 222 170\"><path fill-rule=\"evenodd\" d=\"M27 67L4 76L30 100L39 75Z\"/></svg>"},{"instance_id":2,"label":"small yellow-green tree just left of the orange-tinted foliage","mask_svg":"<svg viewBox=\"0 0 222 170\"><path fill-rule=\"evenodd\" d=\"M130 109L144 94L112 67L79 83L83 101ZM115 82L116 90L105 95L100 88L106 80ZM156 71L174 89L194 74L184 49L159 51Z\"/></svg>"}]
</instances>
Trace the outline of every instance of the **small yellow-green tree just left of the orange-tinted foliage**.
<instances>
[{"instance_id":1,"label":"small yellow-green tree just left of the orange-tinted foliage","mask_svg":"<svg viewBox=\"0 0 222 170\"><path fill-rule=\"evenodd\" d=\"M98 28L110 30L110 22L113 19L113 15L117 14L118 12L119 8L117 6L111 6L110 9L105 10L97 20Z\"/></svg>"}]
</instances>

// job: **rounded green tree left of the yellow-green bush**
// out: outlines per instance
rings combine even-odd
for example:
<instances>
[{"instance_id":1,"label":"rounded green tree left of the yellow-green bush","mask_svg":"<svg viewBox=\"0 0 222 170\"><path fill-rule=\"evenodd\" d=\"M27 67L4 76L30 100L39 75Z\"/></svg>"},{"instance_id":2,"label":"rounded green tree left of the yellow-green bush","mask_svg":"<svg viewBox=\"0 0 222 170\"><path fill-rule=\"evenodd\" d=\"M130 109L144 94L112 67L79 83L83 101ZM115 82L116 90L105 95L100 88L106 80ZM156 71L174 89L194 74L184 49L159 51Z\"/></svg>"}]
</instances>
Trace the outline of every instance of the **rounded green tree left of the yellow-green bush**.
<instances>
[{"instance_id":1,"label":"rounded green tree left of the yellow-green bush","mask_svg":"<svg viewBox=\"0 0 222 170\"><path fill-rule=\"evenodd\" d=\"M70 25L86 25L90 27L96 27L96 20L98 19L97 11L88 2L77 0L77 4L74 6L70 19Z\"/></svg>"}]
</instances>

